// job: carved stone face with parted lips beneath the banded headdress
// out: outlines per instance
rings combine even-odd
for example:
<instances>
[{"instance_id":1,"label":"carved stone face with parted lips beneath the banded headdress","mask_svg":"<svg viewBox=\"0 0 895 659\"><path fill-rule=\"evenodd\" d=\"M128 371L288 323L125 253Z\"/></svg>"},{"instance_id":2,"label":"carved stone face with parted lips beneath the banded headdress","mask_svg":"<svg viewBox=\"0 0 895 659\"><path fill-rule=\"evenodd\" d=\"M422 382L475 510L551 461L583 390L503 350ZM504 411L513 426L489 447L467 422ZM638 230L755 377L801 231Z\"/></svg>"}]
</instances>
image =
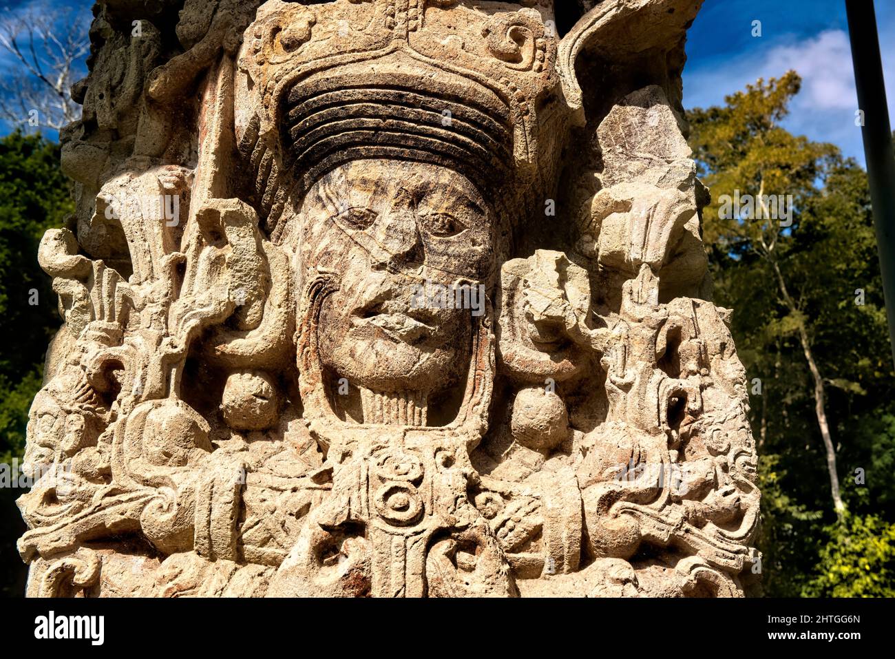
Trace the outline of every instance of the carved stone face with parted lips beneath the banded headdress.
<instances>
[{"instance_id":1,"label":"carved stone face with parted lips beneath the banded headdress","mask_svg":"<svg viewBox=\"0 0 895 659\"><path fill-rule=\"evenodd\" d=\"M337 274L320 312L322 366L374 391L455 382L469 362L473 313L454 291L481 290L491 226L473 184L443 167L358 160L325 175L299 223L300 266ZM431 304L429 293L442 290L448 304Z\"/></svg>"}]
</instances>

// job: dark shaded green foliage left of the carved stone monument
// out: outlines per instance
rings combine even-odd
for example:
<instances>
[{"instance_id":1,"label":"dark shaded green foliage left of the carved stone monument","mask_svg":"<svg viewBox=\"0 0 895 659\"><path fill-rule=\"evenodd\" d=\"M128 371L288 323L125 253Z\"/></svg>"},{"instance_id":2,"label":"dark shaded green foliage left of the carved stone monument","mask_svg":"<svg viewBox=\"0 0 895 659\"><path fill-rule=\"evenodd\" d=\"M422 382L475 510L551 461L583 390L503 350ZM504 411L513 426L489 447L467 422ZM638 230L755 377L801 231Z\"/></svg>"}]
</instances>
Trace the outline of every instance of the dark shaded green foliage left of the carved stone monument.
<instances>
[{"instance_id":1,"label":"dark shaded green foliage left of the carved stone monument","mask_svg":"<svg viewBox=\"0 0 895 659\"><path fill-rule=\"evenodd\" d=\"M21 133L0 139L0 459L21 457L47 342L60 324L38 266L40 237L72 210L58 144Z\"/></svg>"}]
</instances>

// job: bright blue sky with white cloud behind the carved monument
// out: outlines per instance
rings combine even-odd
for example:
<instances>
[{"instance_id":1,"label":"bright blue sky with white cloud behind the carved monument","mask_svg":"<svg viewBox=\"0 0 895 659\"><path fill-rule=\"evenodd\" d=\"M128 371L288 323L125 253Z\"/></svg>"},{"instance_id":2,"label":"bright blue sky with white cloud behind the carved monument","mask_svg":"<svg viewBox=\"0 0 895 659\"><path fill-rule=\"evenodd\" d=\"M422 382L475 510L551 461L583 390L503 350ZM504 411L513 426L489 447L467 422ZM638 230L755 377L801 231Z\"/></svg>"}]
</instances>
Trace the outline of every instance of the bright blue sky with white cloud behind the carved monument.
<instances>
[{"instance_id":1,"label":"bright blue sky with white cloud behind the carved monument","mask_svg":"<svg viewBox=\"0 0 895 659\"><path fill-rule=\"evenodd\" d=\"M47 0L0 0L0 12L21 11ZM90 15L91 0L53 0ZM895 0L876 0L890 115L895 125ZM762 36L752 36L753 21ZM685 107L720 105L757 78L795 69L802 91L785 126L812 140L831 141L862 164L857 96L848 47L844 0L705 0L687 40ZM0 76L10 59L0 53ZM0 124L0 133L5 129Z\"/></svg>"}]
</instances>

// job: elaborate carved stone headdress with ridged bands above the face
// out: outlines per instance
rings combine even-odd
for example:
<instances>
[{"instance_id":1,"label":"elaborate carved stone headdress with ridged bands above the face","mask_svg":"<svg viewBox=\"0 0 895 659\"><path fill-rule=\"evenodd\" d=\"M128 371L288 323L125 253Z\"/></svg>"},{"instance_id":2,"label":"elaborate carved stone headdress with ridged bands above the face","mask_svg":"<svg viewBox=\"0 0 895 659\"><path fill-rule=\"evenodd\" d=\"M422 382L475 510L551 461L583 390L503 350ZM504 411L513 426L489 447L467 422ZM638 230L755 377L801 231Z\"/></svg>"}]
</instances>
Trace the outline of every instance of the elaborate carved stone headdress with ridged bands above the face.
<instances>
[{"instance_id":1,"label":"elaborate carved stone headdress with ridged bands above the face","mask_svg":"<svg viewBox=\"0 0 895 659\"><path fill-rule=\"evenodd\" d=\"M268 230L277 234L286 186L301 193L359 158L450 167L484 191L512 178L524 194L549 180L558 148L541 140L543 119L557 131L570 113L551 103L552 0L525 4L504 13L456 0L262 5L239 58L236 130Z\"/></svg>"}]
</instances>

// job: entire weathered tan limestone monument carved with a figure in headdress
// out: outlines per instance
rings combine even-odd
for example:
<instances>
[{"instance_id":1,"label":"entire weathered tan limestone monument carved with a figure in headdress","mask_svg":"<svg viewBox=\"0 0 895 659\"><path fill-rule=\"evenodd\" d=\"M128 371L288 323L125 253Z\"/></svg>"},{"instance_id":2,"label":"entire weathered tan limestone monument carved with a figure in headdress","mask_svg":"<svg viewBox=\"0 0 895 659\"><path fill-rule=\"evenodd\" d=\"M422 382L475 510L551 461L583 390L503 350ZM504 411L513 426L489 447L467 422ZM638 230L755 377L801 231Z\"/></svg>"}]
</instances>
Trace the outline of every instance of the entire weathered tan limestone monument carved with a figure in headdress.
<instances>
[{"instance_id":1,"label":"entire weathered tan limestone monument carved with a figure in headdress","mask_svg":"<svg viewBox=\"0 0 895 659\"><path fill-rule=\"evenodd\" d=\"M699 4L98 2L29 595L743 595Z\"/></svg>"}]
</instances>

